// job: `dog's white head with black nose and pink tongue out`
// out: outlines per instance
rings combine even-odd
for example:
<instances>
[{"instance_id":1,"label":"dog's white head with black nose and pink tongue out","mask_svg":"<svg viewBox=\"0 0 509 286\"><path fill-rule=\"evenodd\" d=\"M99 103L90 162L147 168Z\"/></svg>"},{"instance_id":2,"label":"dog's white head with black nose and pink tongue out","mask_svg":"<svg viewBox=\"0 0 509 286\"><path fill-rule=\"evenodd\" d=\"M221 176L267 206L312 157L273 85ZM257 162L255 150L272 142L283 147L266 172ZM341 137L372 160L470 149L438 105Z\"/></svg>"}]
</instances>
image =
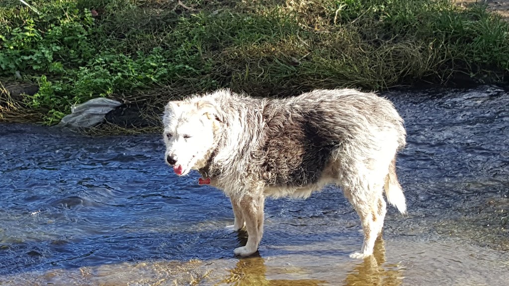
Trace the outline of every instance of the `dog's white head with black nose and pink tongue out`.
<instances>
[{"instance_id":1,"label":"dog's white head with black nose and pink tongue out","mask_svg":"<svg viewBox=\"0 0 509 286\"><path fill-rule=\"evenodd\" d=\"M170 101L163 115L165 161L175 174L204 167L217 145L223 118L214 101Z\"/></svg>"}]
</instances>

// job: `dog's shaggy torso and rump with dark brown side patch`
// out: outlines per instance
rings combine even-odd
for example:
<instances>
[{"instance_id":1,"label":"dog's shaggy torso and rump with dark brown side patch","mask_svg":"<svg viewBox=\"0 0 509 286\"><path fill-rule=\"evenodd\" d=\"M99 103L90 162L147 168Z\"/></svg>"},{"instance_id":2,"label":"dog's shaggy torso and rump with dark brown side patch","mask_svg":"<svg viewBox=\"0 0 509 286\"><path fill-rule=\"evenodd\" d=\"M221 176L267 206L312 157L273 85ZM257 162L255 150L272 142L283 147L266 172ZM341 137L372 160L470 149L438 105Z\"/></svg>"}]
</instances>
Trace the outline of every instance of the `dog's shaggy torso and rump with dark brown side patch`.
<instances>
[{"instance_id":1,"label":"dog's shaggy torso and rump with dark brown side patch","mask_svg":"<svg viewBox=\"0 0 509 286\"><path fill-rule=\"evenodd\" d=\"M232 100L246 102L242 97ZM255 159L249 170L267 186L316 184L330 172L327 167L341 172L337 165L376 161L383 154L392 154L384 160L388 168L395 152L405 146L401 117L388 100L375 94L316 90L254 105L246 113L261 113L261 118L245 123L252 136L248 141L256 139L258 147L249 150Z\"/></svg>"}]
</instances>

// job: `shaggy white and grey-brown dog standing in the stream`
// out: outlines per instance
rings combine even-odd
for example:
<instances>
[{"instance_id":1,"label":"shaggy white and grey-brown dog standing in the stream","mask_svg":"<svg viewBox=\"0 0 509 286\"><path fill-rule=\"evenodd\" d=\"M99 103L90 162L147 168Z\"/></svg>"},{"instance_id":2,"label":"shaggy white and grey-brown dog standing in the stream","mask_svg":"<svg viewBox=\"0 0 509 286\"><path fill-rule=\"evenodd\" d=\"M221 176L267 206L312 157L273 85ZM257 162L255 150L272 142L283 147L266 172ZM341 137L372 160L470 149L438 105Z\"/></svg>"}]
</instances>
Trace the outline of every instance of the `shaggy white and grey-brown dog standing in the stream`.
<instances>
[{"instance_id":1,"label":"shaggy white and grey-brown dog standing in the stream","mask_svg":"<svg viewBox=\"0 0 509 286\"><path fill-rule=\"evenodd\" d=\"M354 89L314 90L299 96L253 98L220 89L169 101L162 115L166 163L178 176L230 197L231 231L248 239L234 253L258 251L266 197L307 198L325 185L343 190L360 217L364 241L351 258L373 253L386 202L406 213L396 156L406 146L403 119L393 104ZM205 181L206 180L206 181Z\"/></svg>"}]
</instances>

